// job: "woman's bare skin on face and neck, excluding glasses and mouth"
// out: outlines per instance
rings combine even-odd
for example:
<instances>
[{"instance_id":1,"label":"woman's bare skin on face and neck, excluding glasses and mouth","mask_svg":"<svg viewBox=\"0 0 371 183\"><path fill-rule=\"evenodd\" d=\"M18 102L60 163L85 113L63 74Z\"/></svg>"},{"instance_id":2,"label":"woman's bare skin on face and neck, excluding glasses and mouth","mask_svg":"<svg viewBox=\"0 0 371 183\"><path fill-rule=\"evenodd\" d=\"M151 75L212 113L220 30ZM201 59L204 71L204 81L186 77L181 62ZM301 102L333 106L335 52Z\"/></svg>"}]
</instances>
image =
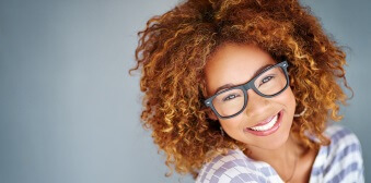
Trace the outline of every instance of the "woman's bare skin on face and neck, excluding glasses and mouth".
<instances>
[{"instance_id":1,"label":"woman's bare skin on face and neck, excluding glasses and mouth","mask_svg":"<svg viewBox=\"0 0 371 183\"><path fill-rule=\"evenodd\" d=\"M205 73L208 96L225 84L247 83L269 64L276 64L270 54L254 45L225 44L208 60ZM297 159L295 171L290 182L309 182L316 151L305 149L290 135L295 110L295 99L290 87L273 98L264 98L253 89L247 91L245 110L231 119L218 119L224 132L232 138L246 144L252 159L270 164L285 181L290 178ZM256 136L245 131L260 121L283 111L280 127L267 136ZM300 113L300 111L297 113Z\"/></svg>"}]
</instances>

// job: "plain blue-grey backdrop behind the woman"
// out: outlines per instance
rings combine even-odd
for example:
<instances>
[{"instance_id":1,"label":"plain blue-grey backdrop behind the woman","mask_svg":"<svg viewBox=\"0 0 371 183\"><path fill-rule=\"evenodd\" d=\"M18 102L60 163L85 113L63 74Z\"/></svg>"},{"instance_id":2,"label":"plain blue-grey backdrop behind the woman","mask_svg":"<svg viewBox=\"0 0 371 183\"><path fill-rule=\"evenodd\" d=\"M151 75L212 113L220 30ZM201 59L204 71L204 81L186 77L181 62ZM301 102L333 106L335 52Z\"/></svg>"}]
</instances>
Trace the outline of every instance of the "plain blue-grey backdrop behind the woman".
<instances>
[{"instance_id":1,"label":"plain blue-grey backdrop behind the woman","mask_svg":"<svg viewBox=\"0 0 371 183\"><path fill-rule=\"evenodd\" d=\"M303 1L347 46L355 90L343 124L371 166L371 2ZM139 29L174 0L0 1L0 182L177 182L139 123ZM183 182L193 182L185 176Z\"/></svg>"}]
</instances>

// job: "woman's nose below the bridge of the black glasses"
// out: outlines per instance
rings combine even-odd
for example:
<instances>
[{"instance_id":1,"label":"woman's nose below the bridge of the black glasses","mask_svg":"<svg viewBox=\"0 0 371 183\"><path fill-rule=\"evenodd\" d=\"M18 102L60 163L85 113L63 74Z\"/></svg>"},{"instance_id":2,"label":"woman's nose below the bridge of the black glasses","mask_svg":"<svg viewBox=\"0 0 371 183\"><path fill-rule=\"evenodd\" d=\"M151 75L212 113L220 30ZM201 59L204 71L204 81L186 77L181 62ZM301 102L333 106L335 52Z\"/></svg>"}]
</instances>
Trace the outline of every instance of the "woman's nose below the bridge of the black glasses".
<instances>
[{"instance_id":1,"label":"woman's nose below the bridge of the black glasses","mask_svg":"<svg viewBox=\"0 0 371 183\"><path fill-rule=\"evenodd\" d=\"M245 114L250 117L259 117L267 112L269 109L269 99L259 96L253 89L247 90L247 106L245 108Z\"/></svg>"}]
</instances>

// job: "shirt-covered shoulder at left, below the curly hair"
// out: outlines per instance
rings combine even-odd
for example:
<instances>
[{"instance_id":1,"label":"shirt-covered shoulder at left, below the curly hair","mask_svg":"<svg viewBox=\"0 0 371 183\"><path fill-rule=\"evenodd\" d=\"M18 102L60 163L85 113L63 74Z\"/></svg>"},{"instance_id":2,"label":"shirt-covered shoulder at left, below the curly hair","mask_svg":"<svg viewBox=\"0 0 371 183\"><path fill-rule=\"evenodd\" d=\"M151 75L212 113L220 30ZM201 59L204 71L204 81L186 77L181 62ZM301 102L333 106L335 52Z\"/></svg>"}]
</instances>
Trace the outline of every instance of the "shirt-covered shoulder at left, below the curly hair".
<instances>
[{"instance_id":1,"label":"shirt-covered shoulder at left, below the curly hair","mask_svg":"<svg viewBox=\"0 0 371 183\"><path fill-rule=\"evenodd\" d=\"M269 182L267 178L274 173L266 163L253 161L240 149L230 149L225 156L219 155L205 163L196 183Z\"/></svg>"}]
</instances>

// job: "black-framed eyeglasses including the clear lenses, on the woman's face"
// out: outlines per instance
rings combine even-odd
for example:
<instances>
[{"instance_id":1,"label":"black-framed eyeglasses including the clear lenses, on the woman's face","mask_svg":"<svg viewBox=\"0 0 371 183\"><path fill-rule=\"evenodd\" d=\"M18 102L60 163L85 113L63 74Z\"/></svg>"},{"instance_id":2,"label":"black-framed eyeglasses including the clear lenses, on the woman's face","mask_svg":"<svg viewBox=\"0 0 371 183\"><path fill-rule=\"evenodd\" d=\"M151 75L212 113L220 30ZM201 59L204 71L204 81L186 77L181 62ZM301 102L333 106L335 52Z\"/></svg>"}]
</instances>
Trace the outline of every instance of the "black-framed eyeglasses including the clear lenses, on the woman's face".
<instances>
[{"instance_id":1,"label":"black-framed eyeglasses including the clear lenses, on the woman's face","mask_svg":"<svg viewBox=\"0 0 371 183\"><path fill-rule=\"evenodd\" d=\"M253 89L265 98L271 98L281 94L289 86L287 61L263 70L250 82L225 90L218 91L204 102L221 119L230 119L240 114L247 106L247 90Z\"/></svg>"}]
</instances>

